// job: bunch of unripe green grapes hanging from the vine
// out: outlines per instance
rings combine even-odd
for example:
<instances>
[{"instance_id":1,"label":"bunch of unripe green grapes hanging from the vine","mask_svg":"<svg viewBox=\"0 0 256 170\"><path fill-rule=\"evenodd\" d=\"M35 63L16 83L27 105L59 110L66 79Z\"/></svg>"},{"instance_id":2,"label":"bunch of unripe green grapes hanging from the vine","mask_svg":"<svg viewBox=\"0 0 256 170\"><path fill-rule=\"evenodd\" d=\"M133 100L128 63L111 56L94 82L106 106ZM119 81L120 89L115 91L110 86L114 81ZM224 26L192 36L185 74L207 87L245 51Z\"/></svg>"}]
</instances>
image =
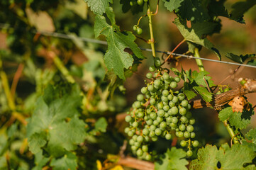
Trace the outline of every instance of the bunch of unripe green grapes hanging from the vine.
<instances>
[{"instance_id":1,"label":"bunch of unripe green grapes hanging from the vine","mask_svg":"<svg viewBox=\"0 0 256 170\"><path fill-rule=\"evenodd\" d=\"M180 146L187 147L187 156L191 157L192 148L199 142L193 140L195 119L192 118L191 105L186 96L175 91L179 77L171 77L162 69L159 58L155 58L155 65L151 66L146 75L151 81L141 89L137 101L133 103L131 111L126 115L129 127L125 132L130 138L129 144L134 154L146 160L152 159L148 150L148 142L157 141L158 137L172 140L176 135L181 139Z\"/></svg>"}]
</instances>

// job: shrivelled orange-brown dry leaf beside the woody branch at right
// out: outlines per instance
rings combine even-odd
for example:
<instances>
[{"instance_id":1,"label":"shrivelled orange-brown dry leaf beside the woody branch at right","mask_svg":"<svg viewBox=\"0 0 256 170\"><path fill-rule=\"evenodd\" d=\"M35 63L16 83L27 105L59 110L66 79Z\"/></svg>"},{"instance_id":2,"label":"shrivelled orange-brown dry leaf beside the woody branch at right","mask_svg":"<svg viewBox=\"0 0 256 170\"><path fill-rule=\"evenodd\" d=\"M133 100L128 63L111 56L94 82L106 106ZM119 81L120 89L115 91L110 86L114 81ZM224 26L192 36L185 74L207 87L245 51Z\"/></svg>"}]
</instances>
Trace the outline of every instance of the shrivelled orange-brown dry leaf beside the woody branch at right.
<instances>
[{"instance_id":1,"label":"shrivelled orange-brown dry leaf beside the woody branch at right","mask_svg":"<svg viewBox=\"0 0 256 170\"><path fill-rule=\"evenodd\" d=\"M232 101L228 103L232 107L233 112L243 112L243 109L248 109L249 104L243 96L236 96Z\"/></svg>"}]
</instances>

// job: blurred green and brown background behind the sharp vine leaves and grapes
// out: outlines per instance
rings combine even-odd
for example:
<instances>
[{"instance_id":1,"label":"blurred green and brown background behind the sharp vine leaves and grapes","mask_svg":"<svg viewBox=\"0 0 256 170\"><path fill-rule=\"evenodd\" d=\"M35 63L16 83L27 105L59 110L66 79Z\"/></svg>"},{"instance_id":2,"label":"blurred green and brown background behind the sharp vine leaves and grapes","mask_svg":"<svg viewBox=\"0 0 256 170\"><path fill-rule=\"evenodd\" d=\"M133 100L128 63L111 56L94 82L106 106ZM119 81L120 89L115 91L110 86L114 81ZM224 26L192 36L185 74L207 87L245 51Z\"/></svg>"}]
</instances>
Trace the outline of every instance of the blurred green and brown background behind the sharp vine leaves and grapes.
<instances>
[{"instance_id":1,"label":"blurred green and brown background behind the sharp vine leaves and grapes","mask_svg":"<svg viewBox=\"0 0 256 170\"><path fill-rule=\"evenodd\" d=\"M226 1L230 8L235 0ZM152 4L154 6L154 4ZM133 30L140 16L144 12L133 15L130 11L123 13L119 1L113 1L117 25L121 30ZM155 9L152 8L152 11ZM227 52L237 55L255 53L256 51L256 7L245 14L246 24L236 23L228 18L221 18L223 24L221 33L212 35L209 39L218 48L223 60ZM172 23L174 13L169 13L160 3L157 16L153 17L156 49L171 51L183 40L177 27ZM143 37L149 39L148 21L142 19L140 27L143 28ZM135 101L135 97L144 84L145 74L152 64L150 52L143 52L148 60L143 60L138 70L130 74L123 81L107 72L104 66L104 52L106 45L94 42L83 42L79 38L94 38L94 14L89 11L83 0L11 0L0 2L0 66L1 73L6 74L10 95L6 95L4 86L6 81L1 75L0 81L0 167L5 169L11 162L11 169L32 169L38 166L34 163L35 157L28 150L26 141L26 118L29 118L35 108L35 101L42 96L48 84L65 84L67 75L65 69L79 84L84 95L83 117L87 123L94 123L101 116L108 121L108 130L98 132L96 136L88 137L82 149L79 150L79 166L88 169L96 168L96 160L104 161L109 154L118 154L119 147L123 145L125 135L123 128L123 114ZM62 33L70 35L72 39L56 38L44 33ZM104 40L101 38L101 40ZM143 40L136 40L140 47L150 48ZM187 44L182 44L177 53L187 52ZM53 53L52 53L53 52ZM60 60L54 60L52 54ZM157 54L159 57L162 55ZM202 49L201 57L218 60L213 52ZM217 62L204 62L206 71L210 73L215 84L228 77L236 66L220 64ZM194 60L179 58L175 63L165 67L197 70ZM223 82L231 88L238 86L237 79L243 77L256 79L255 69L242 67L238 72ZM72 81L72 80L71 80ZM110 91L110 89L116 89ZM113 95L114 93L114 95ZM247 95L252 106L256 104L255 94ZM10 105L10 100L14 106ZM13 108L14 107L14 108ZM17 111L18 115L13 113ZM202 108L193 112L197 129L204 129L199 134L204 138L202 144L212 143L220 145L229 140L228 132L222 123L218 123L218 115L210 108ZM14 116L13 116L14 115ZM255 127L255 118L252 125ZM14 131L13 131L14 130ZM221 139L221 140L220 140ZM168 145L160 141L153 145L157 152L165 152ZM8 144L8 145L7 145ZM108 145L106 145L108 144ZM109 147L111 146L111 147ZM45 165L44 165L45 166ZM40 169L40 166L38 166Z\"/></svg>"}]
</instances>

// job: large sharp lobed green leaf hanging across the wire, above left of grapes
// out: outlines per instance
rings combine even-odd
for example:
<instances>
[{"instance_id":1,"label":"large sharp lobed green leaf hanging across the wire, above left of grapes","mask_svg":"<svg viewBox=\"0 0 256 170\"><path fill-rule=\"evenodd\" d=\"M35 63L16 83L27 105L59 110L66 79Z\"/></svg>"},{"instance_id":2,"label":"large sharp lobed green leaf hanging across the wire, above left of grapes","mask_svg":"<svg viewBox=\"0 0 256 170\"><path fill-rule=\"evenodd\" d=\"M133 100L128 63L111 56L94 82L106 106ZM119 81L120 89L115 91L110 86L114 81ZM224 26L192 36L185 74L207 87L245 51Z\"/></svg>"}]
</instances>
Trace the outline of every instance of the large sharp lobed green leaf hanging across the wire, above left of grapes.
<instances>
[{"instance_id":1,"label":"large sharp lobed green leaf hanging across the wire, above left of grapes","mask_svg":"<svg viewBox=\"0 0 256 170\"><path fill-rule=\"evenodd\" d=\"M136 57L144 58L138 45L134 42L135 36L128 31L121 32L115 24L108 25L104 16L96 16L94 32L96 36L99 34L106 36L108 42L108 51L104 56L106 67L109 70L113 69L113 72L121 79L125 79L123 69L128 69L133 64L132 55L124 51L127 47L133 51Z\"/></svg>"}]
</instances>

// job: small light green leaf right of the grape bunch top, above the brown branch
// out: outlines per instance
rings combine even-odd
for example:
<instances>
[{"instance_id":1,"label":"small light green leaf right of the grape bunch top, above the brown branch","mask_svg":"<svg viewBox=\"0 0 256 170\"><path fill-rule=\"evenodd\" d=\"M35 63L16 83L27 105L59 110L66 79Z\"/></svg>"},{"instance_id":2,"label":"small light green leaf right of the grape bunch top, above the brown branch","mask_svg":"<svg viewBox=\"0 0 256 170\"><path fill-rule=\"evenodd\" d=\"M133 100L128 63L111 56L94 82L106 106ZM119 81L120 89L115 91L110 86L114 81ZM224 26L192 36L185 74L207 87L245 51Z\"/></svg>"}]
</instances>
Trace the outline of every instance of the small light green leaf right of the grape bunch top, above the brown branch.
<instances>
[{"instance_id":1,"label":"small light green leaf right of the grape bunch top, above the brown branch","mask_svg":"<svg viewBox=\"0 0 256 170\"><path fill-rule=\"evenodd\" d=\"M196 84L206 87L207 86L206 81L207 81L209 87L215 86L215 84L213 84L213 81L211 80L211 77L206 76L207 74L209 73L206 71L203 71L203 72L194 71L193 77L194 77L194 81L196 81ZM206 81L204 81L204 79Z\"/></svg>"}]
</instances>

